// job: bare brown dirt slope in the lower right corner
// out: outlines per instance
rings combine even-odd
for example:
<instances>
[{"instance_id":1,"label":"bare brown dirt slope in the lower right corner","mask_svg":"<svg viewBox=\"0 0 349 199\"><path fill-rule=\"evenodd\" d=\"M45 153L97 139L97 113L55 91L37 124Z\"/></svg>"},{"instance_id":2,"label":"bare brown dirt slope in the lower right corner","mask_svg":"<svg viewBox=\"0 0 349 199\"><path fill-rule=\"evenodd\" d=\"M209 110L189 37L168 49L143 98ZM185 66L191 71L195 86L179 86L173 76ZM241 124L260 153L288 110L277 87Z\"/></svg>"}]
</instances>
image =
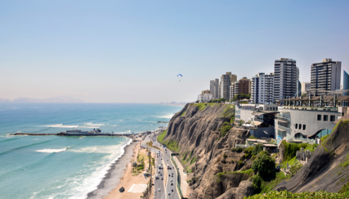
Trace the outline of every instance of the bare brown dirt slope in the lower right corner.
<instances>
[{"instance_id":1,"label":"bare brown dirt slope in the lower right corner","mask_svg":"<svg viewBox=\"0 0 349 199\"><path fill-rule=\"evenodd\" d=\"M349 120L340 121L291 180L274 190L338 192L349 180Z\"/></svg>"}]
</instances>

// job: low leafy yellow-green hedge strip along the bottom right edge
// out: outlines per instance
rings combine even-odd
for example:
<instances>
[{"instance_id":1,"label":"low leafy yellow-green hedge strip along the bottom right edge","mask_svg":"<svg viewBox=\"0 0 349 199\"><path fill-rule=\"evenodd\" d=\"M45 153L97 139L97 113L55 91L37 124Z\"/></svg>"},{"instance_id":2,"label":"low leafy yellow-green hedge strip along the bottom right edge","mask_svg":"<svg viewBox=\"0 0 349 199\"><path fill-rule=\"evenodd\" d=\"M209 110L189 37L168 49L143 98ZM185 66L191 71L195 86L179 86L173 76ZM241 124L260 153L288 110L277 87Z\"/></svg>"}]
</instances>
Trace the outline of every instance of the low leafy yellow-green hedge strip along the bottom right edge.
<instances>
[{"instance_id":1,"label":"low leafy yellow-green hedge strip along the bottom right edge","mask_svg":"<svg viewBox=\"0 0 349 199\"><path fill-rule=\"evenodd\" d=\"M331 192L303 192L294 194L292 192L272 191L267 194L257 194L244 199L348 199L349 195Z\"/></svg>"}]
</instances>

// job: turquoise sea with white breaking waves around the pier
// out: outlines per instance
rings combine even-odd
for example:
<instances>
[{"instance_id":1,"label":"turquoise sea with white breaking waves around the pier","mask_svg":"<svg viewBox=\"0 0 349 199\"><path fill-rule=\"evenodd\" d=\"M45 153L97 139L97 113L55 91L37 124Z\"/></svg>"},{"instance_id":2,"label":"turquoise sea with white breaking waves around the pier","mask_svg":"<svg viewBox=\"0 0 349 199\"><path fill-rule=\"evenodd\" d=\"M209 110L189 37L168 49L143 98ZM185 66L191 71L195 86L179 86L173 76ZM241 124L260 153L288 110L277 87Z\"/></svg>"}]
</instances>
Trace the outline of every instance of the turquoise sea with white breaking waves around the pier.
<instances>
[{"instance_id":1,"label":"turquoise sea with white breaking waves around the pier","mask_svg":"<svg viewBox=\"0 0 349 199\"><path fill-rule=\"evenodd\" d=\"M84 199L130 142L126 137L9 136L69 129L143 132L182 107L161 104L0 103L1 199Z\"/></svg>"}]
</instances>

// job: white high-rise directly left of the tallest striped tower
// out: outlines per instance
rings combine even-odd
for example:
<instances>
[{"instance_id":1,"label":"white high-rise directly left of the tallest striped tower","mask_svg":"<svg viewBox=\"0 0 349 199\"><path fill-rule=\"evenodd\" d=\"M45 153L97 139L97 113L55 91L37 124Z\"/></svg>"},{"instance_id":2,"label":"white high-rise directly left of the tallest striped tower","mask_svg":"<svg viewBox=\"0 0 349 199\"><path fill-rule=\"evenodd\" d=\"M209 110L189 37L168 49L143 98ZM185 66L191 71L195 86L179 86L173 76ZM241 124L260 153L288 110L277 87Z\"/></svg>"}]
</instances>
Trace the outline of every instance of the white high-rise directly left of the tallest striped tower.
<instances>
[{"instance_id":1,"label":"white high-rise directly left of the tallest striped tower","mask_svg":"<svg viewBox=\"0 0 349 199\"><path fill-rule=\"evenodd\" d=\"M251 101L255 103L273 103L274 73L258 73L251 78Z\"/></svg>"}]
</instances>

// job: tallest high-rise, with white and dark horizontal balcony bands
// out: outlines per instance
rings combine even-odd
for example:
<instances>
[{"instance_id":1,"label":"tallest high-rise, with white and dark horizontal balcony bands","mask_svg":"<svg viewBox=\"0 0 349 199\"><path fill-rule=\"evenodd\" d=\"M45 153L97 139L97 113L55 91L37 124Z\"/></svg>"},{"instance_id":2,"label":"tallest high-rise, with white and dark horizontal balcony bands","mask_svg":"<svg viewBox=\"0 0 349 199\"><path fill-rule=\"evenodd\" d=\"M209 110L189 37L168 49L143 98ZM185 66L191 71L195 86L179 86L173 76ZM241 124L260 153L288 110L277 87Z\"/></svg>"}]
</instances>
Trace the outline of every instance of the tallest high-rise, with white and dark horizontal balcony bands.
<instances>
[{"instance_id":1,"label":"tallest high-rise, with white and dark horizontal balcony bands","mask_svg":"<svg viewBox=\"0 0 349 199\"><path fill-rule=\"evenodd\" d=\"M274 63L274 101L297 96L299 68L296 60L281 58Z\"/></svg>"}]
</instances>

